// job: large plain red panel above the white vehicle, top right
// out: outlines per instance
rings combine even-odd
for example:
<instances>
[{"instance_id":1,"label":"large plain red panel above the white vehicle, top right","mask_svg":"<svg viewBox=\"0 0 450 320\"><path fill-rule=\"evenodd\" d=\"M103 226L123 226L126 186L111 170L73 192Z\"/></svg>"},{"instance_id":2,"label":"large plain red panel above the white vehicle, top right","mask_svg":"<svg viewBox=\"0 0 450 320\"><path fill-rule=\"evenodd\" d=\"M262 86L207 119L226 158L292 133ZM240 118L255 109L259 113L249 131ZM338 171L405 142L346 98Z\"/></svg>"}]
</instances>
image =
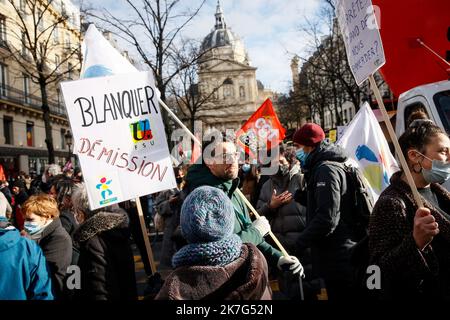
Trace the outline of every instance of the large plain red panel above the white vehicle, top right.
<instances>
[{"instance_id":1,"label":"large plain red panel above the white vehicle, top right","mask_svg":"<svg viewBox=\"0 0 450 320\"><path fill-rule=\"evenodd\" d=\"M380 33L386 64L384 79L396 96L418 85L447 80L448 65L421 46L420 38L450 59L448 0L373 0L380 7ZM400 14L401 13L401 14Z\"/></svg>"}]
</instances>

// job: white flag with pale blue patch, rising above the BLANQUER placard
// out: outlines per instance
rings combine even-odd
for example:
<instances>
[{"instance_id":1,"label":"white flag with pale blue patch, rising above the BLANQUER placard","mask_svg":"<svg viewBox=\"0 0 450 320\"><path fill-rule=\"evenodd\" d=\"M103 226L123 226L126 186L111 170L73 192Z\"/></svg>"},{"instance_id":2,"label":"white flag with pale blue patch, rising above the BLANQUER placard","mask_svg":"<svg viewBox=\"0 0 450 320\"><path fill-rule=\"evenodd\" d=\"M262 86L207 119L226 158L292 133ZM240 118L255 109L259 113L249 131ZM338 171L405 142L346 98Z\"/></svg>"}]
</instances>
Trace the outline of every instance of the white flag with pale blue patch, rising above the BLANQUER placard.
<instances>
[{"instance_id":1,"label":"white flag with pale blue patch, rising above the BLANQUER placard","mask_svg":"<svg viewBox=\"0 0 450 320\"><path fill-rule=\"evenodd\" d=\"M83 66L80 79L131 73L138 70L90 24L83 43Z\"/></svg>"}]
</instances>

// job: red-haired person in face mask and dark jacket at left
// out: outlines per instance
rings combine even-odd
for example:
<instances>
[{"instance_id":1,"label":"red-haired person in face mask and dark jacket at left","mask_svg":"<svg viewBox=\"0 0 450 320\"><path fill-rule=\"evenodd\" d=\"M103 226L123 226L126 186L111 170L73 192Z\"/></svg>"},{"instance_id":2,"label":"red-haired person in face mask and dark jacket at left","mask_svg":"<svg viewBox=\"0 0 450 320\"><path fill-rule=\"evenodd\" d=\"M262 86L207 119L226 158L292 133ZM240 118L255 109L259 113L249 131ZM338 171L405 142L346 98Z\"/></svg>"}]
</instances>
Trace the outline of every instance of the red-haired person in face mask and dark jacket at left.
<instances>
[{"instance_id":1,"label":"red-haired person in face mask and dark jacket at left","mask_svg":"<svg viewBox=\"0 0 450 320\"><path fill-rule=\"evenodd\" d=\"M56 201L49 195L31 196L23 204L24 230L35 240L47 260L56 299L65 298L67 267L72 260L72 239L61 225Z\"/></svg>"}]
</instances>

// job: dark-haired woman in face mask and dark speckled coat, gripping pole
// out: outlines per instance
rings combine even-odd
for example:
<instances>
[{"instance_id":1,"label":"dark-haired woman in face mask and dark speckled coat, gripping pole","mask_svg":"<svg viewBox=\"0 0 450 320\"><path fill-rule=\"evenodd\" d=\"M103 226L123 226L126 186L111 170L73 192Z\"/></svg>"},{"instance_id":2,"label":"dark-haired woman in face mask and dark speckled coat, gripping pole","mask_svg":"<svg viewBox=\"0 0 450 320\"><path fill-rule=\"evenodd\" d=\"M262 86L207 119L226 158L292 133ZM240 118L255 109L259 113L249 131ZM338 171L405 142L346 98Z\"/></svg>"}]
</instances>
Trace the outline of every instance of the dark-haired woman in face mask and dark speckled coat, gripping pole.
<instances>
[{"instance_id":1,"label":"dark-haired woman in face mask and dark speckled coat, gripping pole","mask_svg":"<svg viewBox=\"0 0 450 320\"><path fill-rule=\"evenodd\" d=\"M370 264L380 267L386 299L450 298L450 140L418 123L399 139L425 208L418 208L404 172L391 178L369 224Z\"/></svg>"}]
</instances>

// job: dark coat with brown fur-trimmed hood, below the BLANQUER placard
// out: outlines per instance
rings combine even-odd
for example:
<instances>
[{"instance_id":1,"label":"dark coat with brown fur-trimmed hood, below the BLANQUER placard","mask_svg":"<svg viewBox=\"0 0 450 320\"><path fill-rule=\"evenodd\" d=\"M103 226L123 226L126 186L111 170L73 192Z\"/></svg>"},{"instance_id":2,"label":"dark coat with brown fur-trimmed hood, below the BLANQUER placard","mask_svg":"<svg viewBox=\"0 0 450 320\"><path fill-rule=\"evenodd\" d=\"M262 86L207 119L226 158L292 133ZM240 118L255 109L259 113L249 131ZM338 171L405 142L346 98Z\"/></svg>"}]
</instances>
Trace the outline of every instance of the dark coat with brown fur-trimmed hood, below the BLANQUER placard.
<instances>
[{"instance_id":1,"label":"dark coat with brown fur-trimmed hood, below the BLANQUER placard","mask_svg":"<svg viewBox=\"0 0 450 320\"><path fill-rule=\"evenodd\" d=\"M79 226L73 240L80 251L80 299L136 299L134 257L123 210L94 214Z\"/></svg>"}]
</instances>

